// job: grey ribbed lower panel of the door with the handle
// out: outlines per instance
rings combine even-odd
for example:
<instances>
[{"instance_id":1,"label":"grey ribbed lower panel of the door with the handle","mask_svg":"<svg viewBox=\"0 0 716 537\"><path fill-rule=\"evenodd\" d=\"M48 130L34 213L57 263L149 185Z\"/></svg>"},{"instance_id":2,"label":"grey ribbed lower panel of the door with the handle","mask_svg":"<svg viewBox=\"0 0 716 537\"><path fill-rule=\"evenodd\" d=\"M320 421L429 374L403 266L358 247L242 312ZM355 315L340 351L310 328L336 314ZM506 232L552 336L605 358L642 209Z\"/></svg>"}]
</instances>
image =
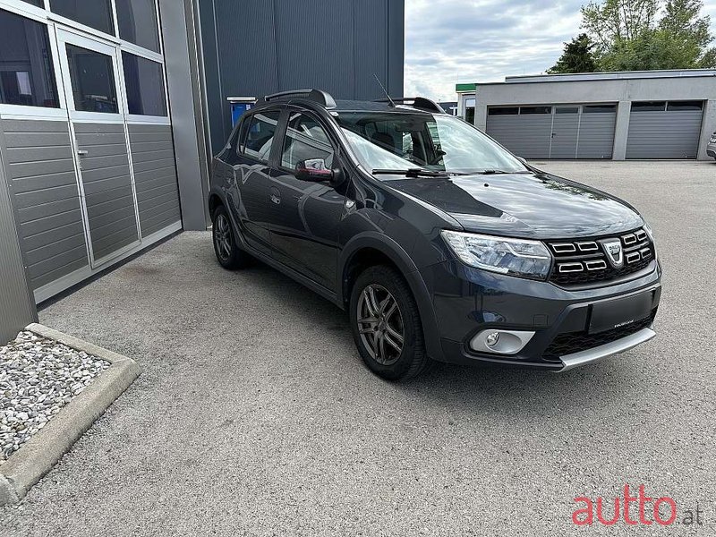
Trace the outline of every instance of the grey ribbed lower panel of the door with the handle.
<instances>
[{"instance_id":1,"label":"grey ribbed lower panel of the door with the handle","mask_svg":"<svg viewBox=\"0 0 716 537\"><path fill-rule=\"evenodd\" d=\"M92 252L100 260L139 240L124 125L75 124L74 130L78 147L87 151L82 186Z\"/></svg>"}]
</instances>

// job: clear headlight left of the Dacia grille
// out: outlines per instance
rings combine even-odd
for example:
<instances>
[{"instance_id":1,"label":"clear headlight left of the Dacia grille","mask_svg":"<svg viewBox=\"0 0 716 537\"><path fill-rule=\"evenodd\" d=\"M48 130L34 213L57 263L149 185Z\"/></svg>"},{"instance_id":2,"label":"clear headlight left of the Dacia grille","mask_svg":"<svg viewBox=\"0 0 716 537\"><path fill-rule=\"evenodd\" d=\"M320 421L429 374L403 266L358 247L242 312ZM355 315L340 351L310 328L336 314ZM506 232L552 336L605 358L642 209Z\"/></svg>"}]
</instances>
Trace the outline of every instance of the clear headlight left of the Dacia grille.
<instances>
[{"instance_id":1,"label":"clear headlight left of the Dacia grille","mask_svg":"<svg viewBox=\"0 0 716 537\"><path fill-rule=\"evenodd\" d=\"M547 279L552 256L539 241L442 231L460 260L471 267L512 276Z\"/></svg>"}]
</instances>

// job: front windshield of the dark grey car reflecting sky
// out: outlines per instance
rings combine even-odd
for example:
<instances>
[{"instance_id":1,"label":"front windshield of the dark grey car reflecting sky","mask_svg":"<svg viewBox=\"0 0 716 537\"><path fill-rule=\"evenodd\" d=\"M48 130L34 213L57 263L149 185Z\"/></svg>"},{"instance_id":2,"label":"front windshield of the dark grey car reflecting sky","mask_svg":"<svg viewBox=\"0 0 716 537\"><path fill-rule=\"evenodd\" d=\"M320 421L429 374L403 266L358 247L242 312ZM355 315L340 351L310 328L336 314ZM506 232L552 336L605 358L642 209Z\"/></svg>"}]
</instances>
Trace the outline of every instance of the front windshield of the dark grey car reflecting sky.
<instances>
[{"instance_id":1,"label":"front windshield of the dark grey car reflecting sky","mask_svg":"<svg viewBox=\"0 0 716 537\"><path fill-rule=\"evenodd\" d=\"M412 168L447 174L528 171L506 149L449 115L340 112L337 121L369 171Z\"/></svg>"}]
</instances>

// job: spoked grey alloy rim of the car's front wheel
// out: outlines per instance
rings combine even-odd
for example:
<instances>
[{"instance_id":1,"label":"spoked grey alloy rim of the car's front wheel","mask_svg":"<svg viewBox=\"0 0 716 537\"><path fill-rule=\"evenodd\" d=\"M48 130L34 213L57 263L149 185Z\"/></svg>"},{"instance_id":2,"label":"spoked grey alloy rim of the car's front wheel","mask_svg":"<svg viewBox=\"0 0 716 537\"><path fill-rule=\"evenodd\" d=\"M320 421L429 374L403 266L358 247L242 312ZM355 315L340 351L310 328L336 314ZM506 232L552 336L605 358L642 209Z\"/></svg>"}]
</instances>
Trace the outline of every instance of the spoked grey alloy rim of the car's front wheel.
<instances>
[{"instance_id":1,"label":"spoked grey alloy rim of the car's front wheel","mask_svg":"<svg viewBox=\"0 0 716 537\"><path fill-rule=\"evenodd\" d=\"M405 327L396 298L385 287L371 284L363 289L357 308L358 333L368 353L382 365L397 362Z\"/></svg>"}]
</instances>

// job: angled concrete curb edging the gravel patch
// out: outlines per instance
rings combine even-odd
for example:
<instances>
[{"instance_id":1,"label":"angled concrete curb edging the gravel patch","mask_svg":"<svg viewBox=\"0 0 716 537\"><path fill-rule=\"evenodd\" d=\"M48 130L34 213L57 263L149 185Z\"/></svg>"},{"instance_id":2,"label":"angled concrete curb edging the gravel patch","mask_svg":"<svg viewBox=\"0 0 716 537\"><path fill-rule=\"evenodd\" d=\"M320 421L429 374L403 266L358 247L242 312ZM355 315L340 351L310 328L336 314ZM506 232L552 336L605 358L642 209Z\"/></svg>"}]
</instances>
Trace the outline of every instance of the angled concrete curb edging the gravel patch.
<instances>
[{"instance_id":1,"label":"angled concrete curb edging the gravel patch","mask_svg":"<svg viewBox=\"0 0 716 537\"><path fill-rule=\"evenodd\" d=\"M78 351L94 354L111 365L0 466L0 506L24 498L32 485L52 469L141 373L137 362L121 354L37 323L25 329Z\"/></svg>"}]
</instances>

